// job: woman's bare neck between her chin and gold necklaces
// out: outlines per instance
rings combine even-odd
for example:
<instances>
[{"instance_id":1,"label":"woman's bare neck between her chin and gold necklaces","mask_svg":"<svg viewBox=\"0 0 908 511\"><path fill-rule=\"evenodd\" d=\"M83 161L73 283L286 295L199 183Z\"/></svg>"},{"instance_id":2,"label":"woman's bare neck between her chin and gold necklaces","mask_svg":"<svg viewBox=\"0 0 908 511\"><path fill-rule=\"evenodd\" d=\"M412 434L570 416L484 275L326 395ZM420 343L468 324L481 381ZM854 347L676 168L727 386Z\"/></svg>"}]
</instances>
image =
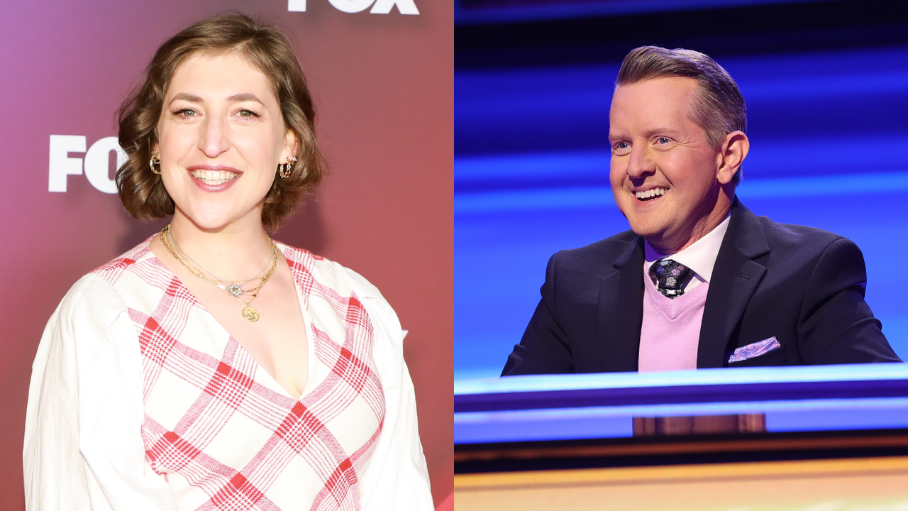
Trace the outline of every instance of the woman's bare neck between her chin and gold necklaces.
<instances>
[{"instance_id":1,"label":"woman's bare neck between her chin and gold necklaces","mask_svg":"<svg viewBox=\"0 0 908 511\"><path fill-rule=\"evenodd\" d=\"M271 243L261 215L219 229L204 229L177 210L170 232L183 254L220 278L250 278L271 260Z\"/></svg>"}]
</instances>

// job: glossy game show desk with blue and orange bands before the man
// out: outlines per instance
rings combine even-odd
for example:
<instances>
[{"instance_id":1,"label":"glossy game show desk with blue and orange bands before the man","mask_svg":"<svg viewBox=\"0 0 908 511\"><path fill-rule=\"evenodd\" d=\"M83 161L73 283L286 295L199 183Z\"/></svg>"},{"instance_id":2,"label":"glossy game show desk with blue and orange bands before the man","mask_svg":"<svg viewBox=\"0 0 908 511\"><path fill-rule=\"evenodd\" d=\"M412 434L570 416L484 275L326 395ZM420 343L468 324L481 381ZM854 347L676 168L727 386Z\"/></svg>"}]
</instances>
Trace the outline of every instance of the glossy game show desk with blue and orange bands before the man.
<instances>
[{"instance_id":1,"label":"glossy game show desk with blue and orange bands before the man","mask_svg":"<svg viewBox=\"0 0 908 511\"><path fill-rule=\"evenodd\" d=\"M455 382L456 510L908 510L908 366Z\"/></svg>"}]
</instances>

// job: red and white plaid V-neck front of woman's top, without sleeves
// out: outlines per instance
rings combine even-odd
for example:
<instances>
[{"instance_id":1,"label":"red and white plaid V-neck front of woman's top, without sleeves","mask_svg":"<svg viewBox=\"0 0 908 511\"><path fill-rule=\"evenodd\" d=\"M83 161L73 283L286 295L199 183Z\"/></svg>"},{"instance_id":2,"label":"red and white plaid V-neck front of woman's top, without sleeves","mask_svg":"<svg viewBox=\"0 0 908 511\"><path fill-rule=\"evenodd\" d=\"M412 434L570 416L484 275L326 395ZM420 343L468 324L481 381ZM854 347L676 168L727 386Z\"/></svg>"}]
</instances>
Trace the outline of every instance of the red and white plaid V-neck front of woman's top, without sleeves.
<instances>
[{"instance_id":1,"label":"red and white plaid V-neck front of woman's top, without sleeves","mask_svg":"<svg viewBox=\"0 0 908 511\"><path fill-rule=\"evenodd\" d=\"M294 400L149 248L102 266L143 356L145 456L181 509L353 510L381 432L373 329L345 270L279 245L312 345Z\"/></svg>"}]
</instances>

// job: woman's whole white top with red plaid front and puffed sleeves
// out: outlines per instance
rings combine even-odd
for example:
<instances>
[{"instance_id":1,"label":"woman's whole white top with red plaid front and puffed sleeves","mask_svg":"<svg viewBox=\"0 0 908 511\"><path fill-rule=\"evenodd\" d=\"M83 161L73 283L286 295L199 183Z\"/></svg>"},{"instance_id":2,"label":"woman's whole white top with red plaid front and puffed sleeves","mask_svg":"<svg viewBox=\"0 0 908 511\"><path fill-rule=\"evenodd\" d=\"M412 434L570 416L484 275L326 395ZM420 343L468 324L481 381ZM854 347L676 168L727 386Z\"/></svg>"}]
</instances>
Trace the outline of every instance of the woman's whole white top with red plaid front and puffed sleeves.
<instances>
[{"instance_id":1,"label":"woman's whole white top with red plaid front and puffed sleeves","mask_svg":"<svg viewBox=\"0 0 908 511\"><path fill-rule=\"evenodd\" d=\"M148 241L75 283L35 356L26 509L433 509L397 315L362 276L279 247L310 339L299 400Z\"/></svg>"}]
</instances>

